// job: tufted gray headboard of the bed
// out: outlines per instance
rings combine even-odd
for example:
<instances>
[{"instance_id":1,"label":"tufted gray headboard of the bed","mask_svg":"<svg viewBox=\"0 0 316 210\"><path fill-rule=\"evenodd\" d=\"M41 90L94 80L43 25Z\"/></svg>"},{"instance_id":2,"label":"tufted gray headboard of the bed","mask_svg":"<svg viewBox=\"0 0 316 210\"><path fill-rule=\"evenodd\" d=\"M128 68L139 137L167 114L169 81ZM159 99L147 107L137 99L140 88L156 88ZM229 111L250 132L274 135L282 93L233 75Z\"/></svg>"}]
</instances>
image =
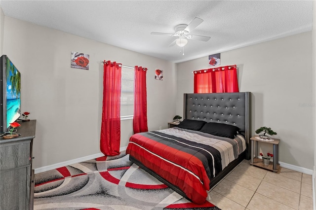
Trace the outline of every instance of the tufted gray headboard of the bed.
<instances>
[{"instance_id":1,"label":"tufted gray headboard of the bed","mask_svg":"<svg viewBox=\"0 0 316 210\"><path fill-rule=\"evenodd\" d=\"M240 128L249 143L251 93L186 93L184 94L184 119L235 125Z\"/></svg>"}]
</instances>

